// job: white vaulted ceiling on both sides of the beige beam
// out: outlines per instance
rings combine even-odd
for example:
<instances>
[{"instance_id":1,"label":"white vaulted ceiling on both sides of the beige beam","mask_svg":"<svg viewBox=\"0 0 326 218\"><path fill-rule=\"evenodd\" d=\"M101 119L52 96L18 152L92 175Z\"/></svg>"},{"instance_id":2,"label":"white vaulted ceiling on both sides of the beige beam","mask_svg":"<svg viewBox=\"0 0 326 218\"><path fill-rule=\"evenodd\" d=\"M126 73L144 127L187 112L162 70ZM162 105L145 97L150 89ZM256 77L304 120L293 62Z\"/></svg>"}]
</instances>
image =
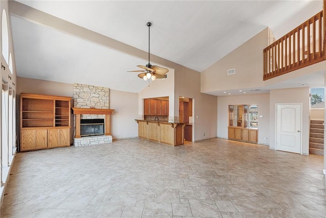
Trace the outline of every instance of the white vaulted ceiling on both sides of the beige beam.
<instances>
[{"instance_id":1,"label":"white vaulted ceiling on both sides of the beige beam","mask_svg":"<svg viewBox=\"0 0 326 218\"><path fill-rule=\"evenodd\" d=\"M199 72L264 28L280 38L322 10L322 1L18 2L146 52L151 21L151 54ZM126 72L148 60L13 14L11 23L20 77L129 92L148 84Z\"/></svg>"}]
</instances>

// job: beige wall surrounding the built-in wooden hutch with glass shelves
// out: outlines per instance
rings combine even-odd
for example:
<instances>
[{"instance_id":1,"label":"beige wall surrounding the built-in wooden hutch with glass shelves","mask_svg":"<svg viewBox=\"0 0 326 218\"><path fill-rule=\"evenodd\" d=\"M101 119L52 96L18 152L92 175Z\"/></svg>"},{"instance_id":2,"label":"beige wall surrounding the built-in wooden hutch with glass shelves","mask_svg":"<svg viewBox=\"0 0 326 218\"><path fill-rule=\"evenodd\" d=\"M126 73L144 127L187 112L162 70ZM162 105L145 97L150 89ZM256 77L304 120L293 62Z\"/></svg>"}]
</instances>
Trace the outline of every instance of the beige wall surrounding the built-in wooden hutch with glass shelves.
<instances>
[{"instance_id":1,"label":"beige wall surrounding the built-in wooden hutch with glass shelves","mask_svg":"<svg viewBox=\"0 0 326 218\"><path fill-rule=\"evenodd\" d=\"M228 138L228 106L258 105L258 143L269 144L269 93L219 96L218 137ZM265 139L267 138L267 139Z\"/></svg>"}]
</instances>

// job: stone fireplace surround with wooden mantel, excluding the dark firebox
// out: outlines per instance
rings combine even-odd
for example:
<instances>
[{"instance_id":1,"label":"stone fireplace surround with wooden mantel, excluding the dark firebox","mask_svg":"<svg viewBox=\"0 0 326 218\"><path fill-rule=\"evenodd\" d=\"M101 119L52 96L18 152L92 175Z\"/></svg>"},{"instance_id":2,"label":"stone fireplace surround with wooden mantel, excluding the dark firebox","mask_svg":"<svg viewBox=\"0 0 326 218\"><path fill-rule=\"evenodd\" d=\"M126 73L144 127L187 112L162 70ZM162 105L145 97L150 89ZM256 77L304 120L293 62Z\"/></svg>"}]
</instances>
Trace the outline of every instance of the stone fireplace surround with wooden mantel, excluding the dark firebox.
<instances>
[{"instance_id":1,"label":"stone fireplace surround with wooden mantel, excluding the dark firebox","mask_svg":"<svg viewBox=\"0 0 326 218\"><path fill-rule=\"evenodd\" d=\"M79 83L73 84L74 107L72 109L74 111L75 135L73 144L75 147L112 142L110 115L114 110L109 109L109 93L110 89L106 87ZM104 135L80 137L80 118L104 119ZM78 119L79 123L77 123ZM79 133L77 129L79 129Z\"/></svg>"}]
</instances>

